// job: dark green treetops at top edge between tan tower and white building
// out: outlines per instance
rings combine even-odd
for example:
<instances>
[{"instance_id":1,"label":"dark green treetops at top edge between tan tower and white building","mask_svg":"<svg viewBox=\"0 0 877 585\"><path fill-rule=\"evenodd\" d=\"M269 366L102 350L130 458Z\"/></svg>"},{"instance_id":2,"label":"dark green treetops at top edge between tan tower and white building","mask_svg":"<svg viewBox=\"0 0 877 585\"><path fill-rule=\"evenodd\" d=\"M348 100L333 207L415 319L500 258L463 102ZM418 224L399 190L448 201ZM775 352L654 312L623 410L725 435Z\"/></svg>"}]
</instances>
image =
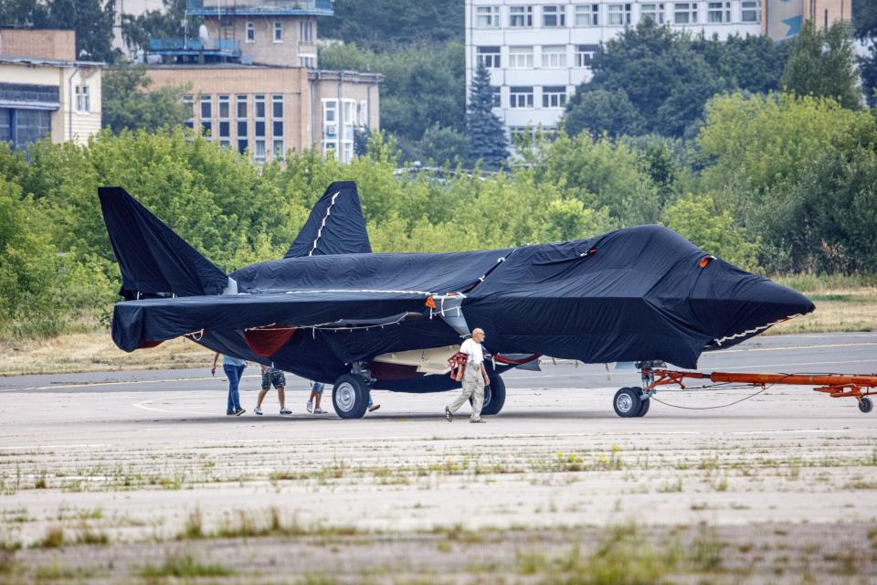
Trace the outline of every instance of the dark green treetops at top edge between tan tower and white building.
<instances>
[{"instance_id":1,"label":"dark green treetops at top edge between tan tower and white building","mask_svg":"<svg viewBox=\"0 0 877 585\"><path fill-rule=\"evenodd\" d=\"M321 37L377 51L463 42L463 0L335 0L334 5L335 16L320 23Z\"/></svg>"}]
</instances>

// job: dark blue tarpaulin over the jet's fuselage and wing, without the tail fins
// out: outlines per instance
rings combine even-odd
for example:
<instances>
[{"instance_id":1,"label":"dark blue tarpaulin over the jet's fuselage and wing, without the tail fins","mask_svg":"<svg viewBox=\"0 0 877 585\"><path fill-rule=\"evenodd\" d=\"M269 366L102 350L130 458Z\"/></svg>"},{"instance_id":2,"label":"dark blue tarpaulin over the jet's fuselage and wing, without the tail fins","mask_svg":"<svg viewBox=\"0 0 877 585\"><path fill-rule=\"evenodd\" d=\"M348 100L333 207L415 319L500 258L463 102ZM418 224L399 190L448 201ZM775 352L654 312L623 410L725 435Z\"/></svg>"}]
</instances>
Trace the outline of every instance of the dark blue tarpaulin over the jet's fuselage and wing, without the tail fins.
<instances>
[{"instance_id":1,"label":"dark blue tarpaulin over the jet's fuselage and wing, without the tail fins","mask_svg":"<svg viewBox=\"0 0 877 585\"><path fill-rule=\"evenodd\" d=\"M485 330L493 353L696 367L703 351L733 346L814 308L806 297L713 259L659 226L508 250L303 256L230 276L237 295L118 303L113 339L132 351L198 332L217 351L333 382L356 361L460 343L425 306L430 294L456 292L466 294L466 322ZM333 325L387 323L412 313L419 318L369 329ZM276 353L257 356L243 331L271 325L296 330ZM452 386L445 380L407 384ZM413 388L378 382L382 387Z\"/></svg>"}]
</instances>

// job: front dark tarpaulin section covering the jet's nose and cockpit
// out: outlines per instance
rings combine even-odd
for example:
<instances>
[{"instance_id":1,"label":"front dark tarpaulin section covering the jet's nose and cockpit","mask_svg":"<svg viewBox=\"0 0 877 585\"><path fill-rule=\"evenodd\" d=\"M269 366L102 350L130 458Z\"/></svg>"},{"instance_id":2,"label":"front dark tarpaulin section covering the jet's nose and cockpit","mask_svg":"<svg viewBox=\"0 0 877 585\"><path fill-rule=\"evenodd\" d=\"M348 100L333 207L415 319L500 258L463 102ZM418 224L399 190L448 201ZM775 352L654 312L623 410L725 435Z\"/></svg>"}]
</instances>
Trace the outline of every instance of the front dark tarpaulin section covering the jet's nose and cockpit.
<instances>
[{"instance_id":1,"label":"front dark tarpaulin section covering the jet's nose and cockpit","mask_svg":"<svg viewBox=\"0 0 877 585\"><path fill-rule=\"evenodd\" d=\"M680 367L813 308L659 226L514 250L463 303L493 351Z\"/></svg>"}]
</instances>

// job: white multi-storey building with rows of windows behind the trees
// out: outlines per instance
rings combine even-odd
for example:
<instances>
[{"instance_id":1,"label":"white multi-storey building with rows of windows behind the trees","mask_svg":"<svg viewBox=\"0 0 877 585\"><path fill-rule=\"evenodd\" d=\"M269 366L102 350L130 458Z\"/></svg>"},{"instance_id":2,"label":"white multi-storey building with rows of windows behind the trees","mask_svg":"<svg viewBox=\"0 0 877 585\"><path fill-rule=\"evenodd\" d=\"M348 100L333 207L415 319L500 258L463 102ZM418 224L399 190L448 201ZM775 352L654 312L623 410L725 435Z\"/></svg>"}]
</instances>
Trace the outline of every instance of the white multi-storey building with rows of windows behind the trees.
<instances>
[{"instance_id":1,"label":"white multi-storey building with rows of windows behind the trees","mask_svg":"<svg viewBox=\"0 0 877 585\"><path fill-rule=\"evenodd\" d=\"M790 37L797 34L802 19L813 18L821 26L823 16L826 24L839 17L850 18L850 0L765 3L466 0L466 95L481 61L491 70L493 112L508 132L523 132L528 125L550 131L556 128L576 87L590 79L589 65L599 44L646 18L692 35L715 34L720 39L747 34ZM767 26L774 21L776 27Z\"/></svg>"}]
</instances>

